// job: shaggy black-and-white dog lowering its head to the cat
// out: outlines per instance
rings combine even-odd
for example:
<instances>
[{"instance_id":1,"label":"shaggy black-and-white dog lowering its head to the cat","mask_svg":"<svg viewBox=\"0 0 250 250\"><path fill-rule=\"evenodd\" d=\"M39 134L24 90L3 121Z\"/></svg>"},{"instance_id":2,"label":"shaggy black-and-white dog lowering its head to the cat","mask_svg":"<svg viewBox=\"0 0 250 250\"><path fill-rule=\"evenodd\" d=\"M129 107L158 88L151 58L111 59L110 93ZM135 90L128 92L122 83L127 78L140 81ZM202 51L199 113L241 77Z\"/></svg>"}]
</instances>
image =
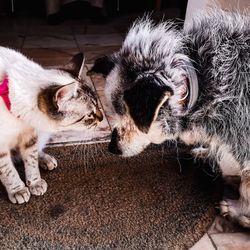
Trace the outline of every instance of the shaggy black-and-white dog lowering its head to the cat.
<instances>
[{"instance_id":1,"label":"shaggy black-and-white dog lowering its head to the cat","mask_svg":"<svg viewBox=\"0 0 250 250\"><path fill-rule=\"evenodd\" d=\"M106 76L111 152L132 156L176 139L208 145L224 175L241 177L240 199L222 201L222 214L250 227L249 17L207 12L183 31L143 18L91 72Z\"/></svg>"}]
</instances>

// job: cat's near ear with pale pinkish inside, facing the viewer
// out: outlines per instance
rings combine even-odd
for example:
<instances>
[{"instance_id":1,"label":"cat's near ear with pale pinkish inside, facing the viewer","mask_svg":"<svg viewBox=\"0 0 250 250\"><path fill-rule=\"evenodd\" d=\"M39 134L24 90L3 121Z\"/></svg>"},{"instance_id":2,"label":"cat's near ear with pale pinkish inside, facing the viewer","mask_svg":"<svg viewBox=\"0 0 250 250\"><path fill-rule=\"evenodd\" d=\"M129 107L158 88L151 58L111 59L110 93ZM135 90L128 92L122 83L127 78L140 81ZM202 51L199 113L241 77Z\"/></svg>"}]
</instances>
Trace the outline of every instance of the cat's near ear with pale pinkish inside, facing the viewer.
<instances>
[{"instance_id":1,"label":"cat's near ear with pale pinkish inside, facing the viewer","mask_svg":"<svg viewBox=\"0 0 250 250\"><path fill-rule=\"evenodd\" d=\"M54 95L54 102L56 103L56 106L60 109L63 103L75 96L77 88L78 86L76 83L67 84L59 88Z\"/></svg>"}]
</instances>

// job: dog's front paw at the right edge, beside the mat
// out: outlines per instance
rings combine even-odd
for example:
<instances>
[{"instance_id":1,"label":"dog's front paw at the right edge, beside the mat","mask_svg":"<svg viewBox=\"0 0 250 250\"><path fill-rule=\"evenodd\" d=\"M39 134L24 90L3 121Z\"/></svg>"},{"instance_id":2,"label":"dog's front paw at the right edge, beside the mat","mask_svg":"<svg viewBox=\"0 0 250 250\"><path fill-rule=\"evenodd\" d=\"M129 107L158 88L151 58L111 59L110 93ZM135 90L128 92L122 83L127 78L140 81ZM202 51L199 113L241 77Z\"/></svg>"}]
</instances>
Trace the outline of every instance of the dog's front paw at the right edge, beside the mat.
<instances>
[{"instance_id":1,"label":"dog's front paw at the right edge, beside the mat","mask_svg":"<svg viewBox=\"0 0 250 250\"><path fill-rule=\"evenodd\" d=\"M250 228L250 207L241 200L223 200L220 202L220 212L224 217Z\"/></svg>"}]
</instances>

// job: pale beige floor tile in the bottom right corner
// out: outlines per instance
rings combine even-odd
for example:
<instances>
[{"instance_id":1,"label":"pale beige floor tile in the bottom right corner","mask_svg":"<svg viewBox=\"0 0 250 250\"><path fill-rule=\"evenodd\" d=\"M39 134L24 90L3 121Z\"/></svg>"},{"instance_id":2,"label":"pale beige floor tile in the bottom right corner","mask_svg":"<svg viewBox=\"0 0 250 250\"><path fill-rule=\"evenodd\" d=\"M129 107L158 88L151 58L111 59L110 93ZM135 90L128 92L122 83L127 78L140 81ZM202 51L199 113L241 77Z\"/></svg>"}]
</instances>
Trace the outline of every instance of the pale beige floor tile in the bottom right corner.
<instances>
[{"instance_id":1,"label":"pale beige floor tile in the bottom right corner","mask_svg":"<svg viewBox=\"0 0 250 250\"><path fill-rule=\"evenodd\" d=\"M221 233L210 237L218 250L250 249L250 233Z\"/></svg>"}]
</instances>

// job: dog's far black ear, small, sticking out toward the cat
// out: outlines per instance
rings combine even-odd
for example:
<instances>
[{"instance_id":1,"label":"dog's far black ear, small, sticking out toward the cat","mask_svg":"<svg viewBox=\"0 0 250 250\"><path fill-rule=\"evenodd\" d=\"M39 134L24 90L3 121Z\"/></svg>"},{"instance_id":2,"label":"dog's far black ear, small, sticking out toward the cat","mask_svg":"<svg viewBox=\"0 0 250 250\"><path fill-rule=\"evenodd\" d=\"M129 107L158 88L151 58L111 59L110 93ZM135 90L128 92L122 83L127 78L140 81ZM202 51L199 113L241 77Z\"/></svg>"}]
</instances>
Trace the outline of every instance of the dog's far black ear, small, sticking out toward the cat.
<instances>
[{"instance_id":1,"label":"dog's far black ear, small, sticking out toward the cat","mask_svg":"<svg viewBox=\"0 0 250 250\"><path fill-rule=\"evenodd\" d=\"M91 76L97 73L106 78L114 66L115 64L110 56L103 56L95 60L94 66L87 72L87 75Z\"/></svg>"}]
</instances>

